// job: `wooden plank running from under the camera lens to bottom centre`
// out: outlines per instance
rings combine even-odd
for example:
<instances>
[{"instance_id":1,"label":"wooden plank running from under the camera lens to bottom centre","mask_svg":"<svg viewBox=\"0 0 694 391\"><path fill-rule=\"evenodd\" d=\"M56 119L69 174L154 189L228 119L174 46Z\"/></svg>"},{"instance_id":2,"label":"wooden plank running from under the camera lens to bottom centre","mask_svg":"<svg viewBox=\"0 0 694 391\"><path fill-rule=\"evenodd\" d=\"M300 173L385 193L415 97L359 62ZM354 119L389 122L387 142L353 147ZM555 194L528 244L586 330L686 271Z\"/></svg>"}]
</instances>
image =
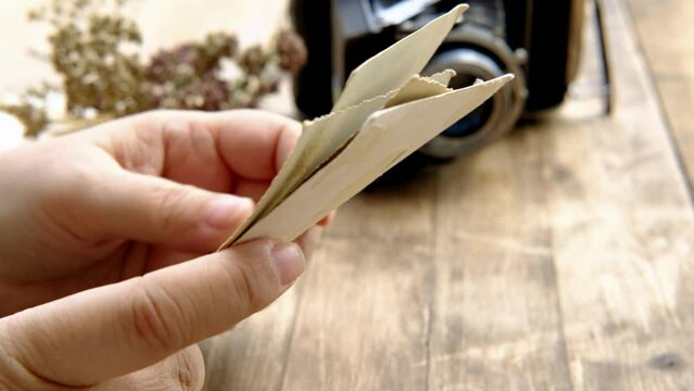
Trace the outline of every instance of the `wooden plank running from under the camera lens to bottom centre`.
<instances>
[{"instance_id":1,"label":"wooden plank running from under the camera lens to bottom centre","mask_svg":"<svg viewBox=\"0 0 694 391\"><path fill-rule=\"evenodd\" d=\"M283 390L421 390L436 177L340 211L304 276Z\"/></svg>"}]
</instances>

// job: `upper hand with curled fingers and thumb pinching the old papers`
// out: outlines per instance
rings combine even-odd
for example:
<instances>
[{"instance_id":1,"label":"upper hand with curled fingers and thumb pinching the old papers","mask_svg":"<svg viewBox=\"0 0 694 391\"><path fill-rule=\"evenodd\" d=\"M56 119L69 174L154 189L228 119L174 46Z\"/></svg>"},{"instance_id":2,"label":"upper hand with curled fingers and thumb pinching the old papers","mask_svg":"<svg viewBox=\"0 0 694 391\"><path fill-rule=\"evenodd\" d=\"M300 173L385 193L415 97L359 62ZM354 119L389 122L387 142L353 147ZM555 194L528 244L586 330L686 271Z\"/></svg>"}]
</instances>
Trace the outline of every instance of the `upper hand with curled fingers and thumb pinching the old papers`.
<instances>
[{"instance_id":1,"label":"upper hand with curled fingers and thumb pinching the old papers","mask_svg":"<svg viewBox=\"0 0 694 391\"><path fill-rule=\"evenodd\" d=\"M258 111L155 112L0 154L0 316L214 251L299 129Z\"/></svg>"}]
</instances>

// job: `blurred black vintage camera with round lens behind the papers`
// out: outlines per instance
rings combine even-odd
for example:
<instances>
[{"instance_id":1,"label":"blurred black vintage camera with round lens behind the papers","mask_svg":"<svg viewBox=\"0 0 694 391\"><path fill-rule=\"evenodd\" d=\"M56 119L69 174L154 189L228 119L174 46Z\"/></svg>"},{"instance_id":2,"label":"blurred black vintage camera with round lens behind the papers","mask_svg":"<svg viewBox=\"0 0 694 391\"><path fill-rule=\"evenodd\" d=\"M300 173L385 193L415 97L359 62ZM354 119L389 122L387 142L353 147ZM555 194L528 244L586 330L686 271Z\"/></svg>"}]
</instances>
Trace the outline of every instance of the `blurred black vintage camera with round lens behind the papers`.
<instances>
[{"instance_id":1,"label":"blurred black vintage camera with round lens behind the papers","mask_svg":"<svg viewBox=\"0 0 694 391\"><path fill-rule=\"evenodd\" d=\"M350 72L462 2L464 14L424 75L452 68L452 88L505 73L516 78L419 151L449 160L513 128L523 113L561 103L578 64L584 0L293 0L291 14L308 49L294 79L296 106L326 114Z\"/></svg>"}]
</instances>

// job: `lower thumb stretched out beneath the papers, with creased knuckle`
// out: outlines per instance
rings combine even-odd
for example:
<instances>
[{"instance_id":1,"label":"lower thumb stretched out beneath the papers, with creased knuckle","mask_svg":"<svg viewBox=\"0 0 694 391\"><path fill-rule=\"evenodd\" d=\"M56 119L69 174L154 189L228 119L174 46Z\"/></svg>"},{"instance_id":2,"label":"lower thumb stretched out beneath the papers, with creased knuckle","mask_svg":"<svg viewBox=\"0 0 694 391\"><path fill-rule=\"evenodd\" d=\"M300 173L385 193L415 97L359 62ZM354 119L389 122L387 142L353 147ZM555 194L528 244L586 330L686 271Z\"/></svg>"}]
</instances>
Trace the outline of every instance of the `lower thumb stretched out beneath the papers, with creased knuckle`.
<instances>
[{"instance_id":1,"label":"lower thumb stretched out beneath the papers, with creased knuckle","mask_svg":"<svg viewBox=\"0 0 694 391\"><path fill-rule=\"evenodd\" d=\"M0 350L9 345L25 377L97 384L230 328L278 298L303 267L294 243L236 245L7 317L0 337L12 338L0 338Z\"/></svg>"}]
</instances>

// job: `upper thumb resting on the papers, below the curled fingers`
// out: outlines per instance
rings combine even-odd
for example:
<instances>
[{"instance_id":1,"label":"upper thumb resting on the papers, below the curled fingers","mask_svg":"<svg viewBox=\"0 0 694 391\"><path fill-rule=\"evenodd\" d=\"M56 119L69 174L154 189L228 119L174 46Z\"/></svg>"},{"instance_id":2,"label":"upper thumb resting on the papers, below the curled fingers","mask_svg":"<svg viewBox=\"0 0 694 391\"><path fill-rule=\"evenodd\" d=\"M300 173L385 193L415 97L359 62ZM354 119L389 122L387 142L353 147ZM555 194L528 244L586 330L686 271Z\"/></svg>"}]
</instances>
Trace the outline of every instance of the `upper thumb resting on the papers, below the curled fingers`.
<instances>
[{"instance_id":1,"label":"upper thumb resting on the papers, below the curled fingers","mask_svg":"<svg viewBox=\"0 0 694 391\"><path fill-rule=\"evenodd\" d=\"M168 179L116 171L104 187L85 197L92 226L87 232L164 243L206 252L226 239L253 211L248 198L217 193Z\"/></svg>"}]
</instances>

